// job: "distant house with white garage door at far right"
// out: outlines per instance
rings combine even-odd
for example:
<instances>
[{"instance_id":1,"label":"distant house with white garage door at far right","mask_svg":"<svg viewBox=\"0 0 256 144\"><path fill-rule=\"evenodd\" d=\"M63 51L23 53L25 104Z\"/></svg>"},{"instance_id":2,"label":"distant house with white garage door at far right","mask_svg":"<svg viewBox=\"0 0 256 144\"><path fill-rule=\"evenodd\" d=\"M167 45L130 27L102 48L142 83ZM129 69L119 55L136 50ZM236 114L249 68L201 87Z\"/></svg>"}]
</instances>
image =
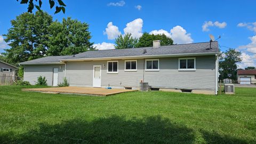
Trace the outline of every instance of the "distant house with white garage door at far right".
<instances>
[{"instance_id":1,"label":"distant house with white garage door at far right","mask_svg":"<svg viewBox=\"0 0 256 144\"><path fill-rule=\"evenodd\" d=\"M237 80L240 84L255 84L256 70L237 70Z\"/></svg>"}]
</instances>

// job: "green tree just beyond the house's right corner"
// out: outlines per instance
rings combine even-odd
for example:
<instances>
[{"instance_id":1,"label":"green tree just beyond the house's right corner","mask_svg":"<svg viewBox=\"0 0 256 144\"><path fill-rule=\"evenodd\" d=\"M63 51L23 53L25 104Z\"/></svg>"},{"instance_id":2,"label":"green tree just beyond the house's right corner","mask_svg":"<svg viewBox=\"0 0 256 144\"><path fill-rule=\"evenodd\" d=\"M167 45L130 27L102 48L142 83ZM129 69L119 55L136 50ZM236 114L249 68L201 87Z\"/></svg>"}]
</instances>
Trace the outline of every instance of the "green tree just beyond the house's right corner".
<instances>
[{"instance_id":1,"label":"green tree just beyond the house's right corner","mask_svg":"<svg viewBox=\"0 0 256 144\"><path fill-rule=\"evenodd\" d=\"M224 57L225 55L225 57ZM220 55L219 67L220 67L220 79L230 78L237 79L237 62L241 62L241 52L235 49L229 49L225 53ZM231 77L228 77L231 74Z\"/></svg>"}]
</instances>

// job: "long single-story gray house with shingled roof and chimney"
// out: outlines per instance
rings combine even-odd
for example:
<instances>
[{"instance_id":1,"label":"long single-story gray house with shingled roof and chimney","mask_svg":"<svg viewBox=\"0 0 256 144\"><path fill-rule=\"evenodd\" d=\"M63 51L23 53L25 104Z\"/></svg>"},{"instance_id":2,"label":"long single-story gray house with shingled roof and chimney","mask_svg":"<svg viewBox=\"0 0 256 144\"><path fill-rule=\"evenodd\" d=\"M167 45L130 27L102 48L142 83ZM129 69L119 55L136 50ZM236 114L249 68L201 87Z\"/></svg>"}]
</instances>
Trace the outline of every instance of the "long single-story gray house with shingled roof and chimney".
<instances>
[{"instance_id":1,"label":"long single-story gray house with shingled roof and chimney","mask_svg":"<svg viewBox=\"0 0 256 144\"><path fill-rule=\"evenodd\" d=\"M133 49L87 51L76 55L44 57L21 62L24 81L35 84L45 76L57 86L67 77L70 86L138 89L140 82L170 91L218 91L218 42L178 44Z\"/></svg>"}]
</instances>

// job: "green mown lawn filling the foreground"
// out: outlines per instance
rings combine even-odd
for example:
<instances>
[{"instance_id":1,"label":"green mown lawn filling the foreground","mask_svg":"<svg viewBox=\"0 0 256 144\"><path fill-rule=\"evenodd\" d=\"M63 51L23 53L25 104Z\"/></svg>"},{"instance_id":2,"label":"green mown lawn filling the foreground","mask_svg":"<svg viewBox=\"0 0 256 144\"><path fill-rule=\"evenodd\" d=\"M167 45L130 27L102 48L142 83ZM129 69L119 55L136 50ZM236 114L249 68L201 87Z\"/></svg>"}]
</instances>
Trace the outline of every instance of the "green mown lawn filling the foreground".
<instances>
[{"instance_id":1,"label":"green mown lawn filling the foreground","mask_svg":"<svg viewBox=\"0 0 256 144\"><path fill-rule=\"evenodd\" d=\"M0 86L0 143L256 143L255 88L91 97L28 87Z\"/></svg>"}]
</instances>

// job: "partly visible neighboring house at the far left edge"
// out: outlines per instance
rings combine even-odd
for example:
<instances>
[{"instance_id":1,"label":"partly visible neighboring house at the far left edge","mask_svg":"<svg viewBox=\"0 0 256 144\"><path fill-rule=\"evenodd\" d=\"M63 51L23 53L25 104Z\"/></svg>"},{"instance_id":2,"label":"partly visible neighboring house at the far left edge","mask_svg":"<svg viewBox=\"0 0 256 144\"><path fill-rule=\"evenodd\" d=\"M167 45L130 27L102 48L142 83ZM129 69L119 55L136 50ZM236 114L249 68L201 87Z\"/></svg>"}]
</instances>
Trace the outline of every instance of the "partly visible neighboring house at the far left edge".
<instances>
[{"instance_id":1,"label":"partly visible neighboring house at the far left edge","mask_svg":"<svg viewBox=\"0 0 256 144\"><path fill-rule=\"evenodd\" d=\"M0 75L7 74L9 76L15 76L15 69L18 69L18 67L0 60Z\"/></svg>"}]
</instances>

